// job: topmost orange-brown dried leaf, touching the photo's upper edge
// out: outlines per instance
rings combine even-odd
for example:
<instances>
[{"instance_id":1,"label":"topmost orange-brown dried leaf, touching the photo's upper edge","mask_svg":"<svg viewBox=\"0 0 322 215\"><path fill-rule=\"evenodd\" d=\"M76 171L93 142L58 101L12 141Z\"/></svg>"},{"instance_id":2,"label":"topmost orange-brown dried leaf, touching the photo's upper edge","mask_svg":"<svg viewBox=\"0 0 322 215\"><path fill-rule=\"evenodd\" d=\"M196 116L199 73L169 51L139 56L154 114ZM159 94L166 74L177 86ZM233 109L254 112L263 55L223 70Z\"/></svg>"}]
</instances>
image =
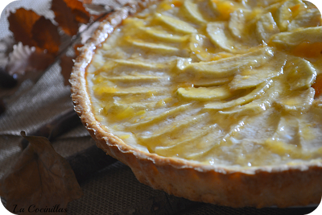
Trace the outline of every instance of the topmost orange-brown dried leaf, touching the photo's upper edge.
<instances>
[{"instance_id":1,"label":"topmost orange-brown dried leaf, touching the photo's upper edge","mask_svg":"<svg viewBox=\"0 0 322 215\"><path fill-rule=\"evenodd\" d=\"M79 23L90 20L83 3L77 0L53 0L51 10L55 13L55 21L69 36L77 34Z\"/></svg>"}]
</instances>

